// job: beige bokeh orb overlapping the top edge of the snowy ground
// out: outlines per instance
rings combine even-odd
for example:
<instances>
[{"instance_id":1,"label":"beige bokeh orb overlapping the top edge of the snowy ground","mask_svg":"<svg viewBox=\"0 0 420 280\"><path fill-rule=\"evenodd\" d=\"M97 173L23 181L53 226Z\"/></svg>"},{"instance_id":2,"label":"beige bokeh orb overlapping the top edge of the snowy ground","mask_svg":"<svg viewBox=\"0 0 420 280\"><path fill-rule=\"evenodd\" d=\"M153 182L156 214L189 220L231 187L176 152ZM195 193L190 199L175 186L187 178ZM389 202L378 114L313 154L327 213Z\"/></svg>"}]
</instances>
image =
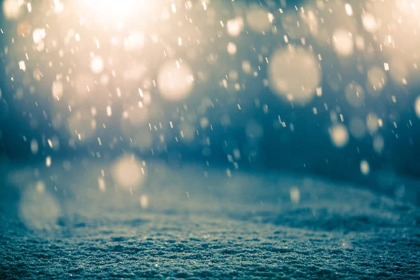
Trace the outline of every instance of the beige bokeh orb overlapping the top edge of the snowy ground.
<instances>
[{"instance_id":1,"label":"beige bokeh orb overlapping the top edge of the snowy ground","mask_svg":"<svg viewBox=\"0 0 420 280\"><path fill-rule=\"evenodd\" d=\"M113 165L113 179L119 186L130 189L141 186L146 179L141 162L134 156L124 156Z\"/></svg>"}]
</instances>

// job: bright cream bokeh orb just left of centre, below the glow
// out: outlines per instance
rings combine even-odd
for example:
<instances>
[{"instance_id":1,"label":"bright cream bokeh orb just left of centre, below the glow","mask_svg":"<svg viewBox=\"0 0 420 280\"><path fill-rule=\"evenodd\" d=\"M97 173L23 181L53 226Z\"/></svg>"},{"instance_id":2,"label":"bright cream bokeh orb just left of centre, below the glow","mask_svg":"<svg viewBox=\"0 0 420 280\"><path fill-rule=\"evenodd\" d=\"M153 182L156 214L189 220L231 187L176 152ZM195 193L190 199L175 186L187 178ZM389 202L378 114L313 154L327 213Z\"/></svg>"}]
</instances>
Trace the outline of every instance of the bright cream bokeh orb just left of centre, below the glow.
<instances>
[{"instance_id":1,"label":"bright cream bokeh orb just left of centre, below the glow","mask_svg":"<svg viewBox=\"0 0 420 280\"><path fill-rule=\"evenodd\" d=\"M160 67L158 88L166 99L175 101L187 97L193 90L193 85L193 71L185 62L169 61Z\"/></svg>"}]
</instances>

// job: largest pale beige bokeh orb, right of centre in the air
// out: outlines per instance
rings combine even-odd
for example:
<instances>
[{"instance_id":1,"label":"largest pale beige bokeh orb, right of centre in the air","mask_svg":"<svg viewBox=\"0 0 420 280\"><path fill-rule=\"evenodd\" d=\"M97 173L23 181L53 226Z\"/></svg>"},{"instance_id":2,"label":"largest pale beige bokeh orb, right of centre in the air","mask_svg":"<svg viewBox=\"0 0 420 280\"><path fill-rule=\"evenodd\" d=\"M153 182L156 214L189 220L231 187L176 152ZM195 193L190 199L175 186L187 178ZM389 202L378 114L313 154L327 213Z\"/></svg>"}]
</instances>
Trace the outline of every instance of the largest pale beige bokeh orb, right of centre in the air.
<instances>
[{"instance_id":1,"label":"largest pale beige bokeh orb, right of centre in the air","mask_svg":"<svg viewBox=\"0 0 420 280\"><path fill-rule=\"evenodd\" d=\"M274 52L269 59L269 85L289 101L311 101L321 83L321 69L313 55L303 48L290 47Z\"/></svg>"}]
</instances>

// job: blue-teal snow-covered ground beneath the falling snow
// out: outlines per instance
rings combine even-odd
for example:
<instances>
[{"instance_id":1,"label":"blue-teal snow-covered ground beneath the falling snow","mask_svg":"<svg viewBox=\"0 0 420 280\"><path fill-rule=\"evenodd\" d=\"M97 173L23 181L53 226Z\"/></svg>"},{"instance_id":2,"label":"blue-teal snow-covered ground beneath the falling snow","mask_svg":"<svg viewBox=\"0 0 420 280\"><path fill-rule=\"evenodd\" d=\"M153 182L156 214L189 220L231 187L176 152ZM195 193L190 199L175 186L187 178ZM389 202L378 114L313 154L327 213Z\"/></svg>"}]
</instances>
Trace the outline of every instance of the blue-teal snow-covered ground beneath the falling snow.
<instances>
[{"instance_id":1,"label":"blue-teal snow-covered ground beneath the falling snow","mask_svg":"<svg viewBox=\"0 0 420 280\"><path fill-rule=\"evenodd\" d=\"M122 190L105 176L102 192L107 168L9 170L0 279L420 277L419 207L379 191L155 164L141 188Z\"/></svg>"}]
</instances>

